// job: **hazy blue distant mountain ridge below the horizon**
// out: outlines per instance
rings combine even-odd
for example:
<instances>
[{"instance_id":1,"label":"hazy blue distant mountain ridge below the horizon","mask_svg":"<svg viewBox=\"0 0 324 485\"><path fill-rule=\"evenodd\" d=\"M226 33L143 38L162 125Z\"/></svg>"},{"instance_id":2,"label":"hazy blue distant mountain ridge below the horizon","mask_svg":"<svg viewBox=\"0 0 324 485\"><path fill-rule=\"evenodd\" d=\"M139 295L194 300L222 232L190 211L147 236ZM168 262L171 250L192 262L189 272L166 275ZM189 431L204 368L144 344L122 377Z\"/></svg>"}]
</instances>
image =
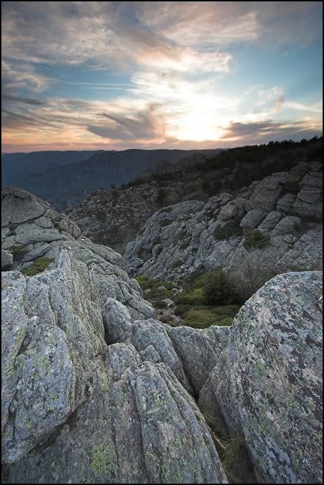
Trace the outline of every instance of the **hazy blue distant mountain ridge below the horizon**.
<instances>
[{"instance_id":1,"label":"hazy blue distant mountain ridge below the horizon","mask_svg":"<svg viewBox=\"0 0 324 485\"><path fill-rule=\"evenodd\" d=\"M111 184L123 184L157 164L177 164L197 153L219 150L70 151L1 156L2 185L15 185L48 200L59 210Z\"/></svg>"}]
</instances>

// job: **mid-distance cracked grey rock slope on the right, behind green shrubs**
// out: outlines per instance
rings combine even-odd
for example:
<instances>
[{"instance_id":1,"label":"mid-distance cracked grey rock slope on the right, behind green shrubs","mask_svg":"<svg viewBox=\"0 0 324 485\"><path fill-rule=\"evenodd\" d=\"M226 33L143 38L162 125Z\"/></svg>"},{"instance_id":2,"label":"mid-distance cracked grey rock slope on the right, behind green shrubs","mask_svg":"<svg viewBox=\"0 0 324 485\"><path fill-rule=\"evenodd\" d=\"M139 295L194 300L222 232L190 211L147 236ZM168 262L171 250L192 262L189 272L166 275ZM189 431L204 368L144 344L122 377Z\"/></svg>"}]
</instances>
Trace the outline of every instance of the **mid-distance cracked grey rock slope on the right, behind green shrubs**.
<instances>
[{"instance_id":1,"label":"mid-distance cracked grey rock slope on the right, behind green shrubs","mask_svg":"<svg viewBox=\"0 0 324 485\"><path fill-rule=\"evenodd\" d=\"M319 162L300 163L235 196L221 193L206 204L190 201L160 209L127 245L127 271L177 280L215 267L233 270L251 255L255 266L278 272L321 267L321 169ZM244 247L251 229L267 236L261 249Z\"/></svg>"}]
</instances>

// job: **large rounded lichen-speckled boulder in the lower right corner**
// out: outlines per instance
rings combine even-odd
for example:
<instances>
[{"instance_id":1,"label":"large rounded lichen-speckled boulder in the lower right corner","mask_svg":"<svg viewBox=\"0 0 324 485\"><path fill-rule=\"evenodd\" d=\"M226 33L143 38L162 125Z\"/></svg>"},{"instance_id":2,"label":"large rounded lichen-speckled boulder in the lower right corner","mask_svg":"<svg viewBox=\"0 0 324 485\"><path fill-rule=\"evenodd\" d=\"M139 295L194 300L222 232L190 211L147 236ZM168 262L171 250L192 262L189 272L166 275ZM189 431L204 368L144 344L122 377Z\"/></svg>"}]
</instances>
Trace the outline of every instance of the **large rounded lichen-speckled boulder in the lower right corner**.
<instances>
[{"instance_id":1,"label":"large rounded lichen-speckled boulder in the lower right corner","mask_svg":"<svg viewBox=\"0 0 324 485\"><path fill-rule=\"evenodd\" d=\"M235 317L199 396L220 432L226 423L244 436L261 482L323 480L321 294L321 272L268 281Z\"/></svg>"}]
</instances>

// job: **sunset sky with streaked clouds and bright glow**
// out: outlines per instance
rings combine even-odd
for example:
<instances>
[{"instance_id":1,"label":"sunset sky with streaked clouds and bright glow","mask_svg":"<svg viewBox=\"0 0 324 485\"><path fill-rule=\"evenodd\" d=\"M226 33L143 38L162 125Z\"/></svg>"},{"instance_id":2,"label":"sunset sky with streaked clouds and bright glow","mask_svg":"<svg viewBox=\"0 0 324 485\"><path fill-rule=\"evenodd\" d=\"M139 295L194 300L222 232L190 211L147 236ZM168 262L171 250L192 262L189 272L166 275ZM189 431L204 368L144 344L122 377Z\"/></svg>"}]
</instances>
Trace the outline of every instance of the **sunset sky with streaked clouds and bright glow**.
<instances>
[{"instance_id":1,"label":"sunset sky with streaked clouds and bright glow","mask_svg":"<svg viewBox=\"0 0 324 485\"><path fill-rule=\"evenodd\" d=\"M322 134L322 3L2 2L2 152Z\"/></svg>"}]
</instances>

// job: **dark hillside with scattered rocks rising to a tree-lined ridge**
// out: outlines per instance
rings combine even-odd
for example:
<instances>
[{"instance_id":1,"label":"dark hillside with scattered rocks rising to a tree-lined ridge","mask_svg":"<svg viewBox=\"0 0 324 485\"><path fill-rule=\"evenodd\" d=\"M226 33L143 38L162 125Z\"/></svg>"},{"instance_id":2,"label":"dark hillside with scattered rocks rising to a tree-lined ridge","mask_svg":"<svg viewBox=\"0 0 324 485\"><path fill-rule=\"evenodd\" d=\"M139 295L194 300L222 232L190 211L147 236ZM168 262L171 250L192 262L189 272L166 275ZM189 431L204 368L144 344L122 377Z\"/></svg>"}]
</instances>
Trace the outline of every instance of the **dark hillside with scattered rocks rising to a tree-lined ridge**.
<instances>
[{"instance_id":1,"label":"dark hillside with scattered rocks rising to a tree-lined ridge","mask_svg":"<svg viewBox=\"0 0 324 485\"><path fill-rule=\"evenodd\" d=\"M191 162L197 162L192 155ZM226 150L216 157L181 166L171 172L161 171L137 178L113 190L102 189L88 195L80 204L66 210L82 231L96 243L107 244L125 252L127 243L136 237L147 218L179 202L199 200L228 193L235 197L241 189L267 175L290 170L298 161L322 157L321 140L306 143L282 142ZM180 166L179 166L180 164ZM296 190L296 188L294 188Z\"/></svg>"}]
</instances>

